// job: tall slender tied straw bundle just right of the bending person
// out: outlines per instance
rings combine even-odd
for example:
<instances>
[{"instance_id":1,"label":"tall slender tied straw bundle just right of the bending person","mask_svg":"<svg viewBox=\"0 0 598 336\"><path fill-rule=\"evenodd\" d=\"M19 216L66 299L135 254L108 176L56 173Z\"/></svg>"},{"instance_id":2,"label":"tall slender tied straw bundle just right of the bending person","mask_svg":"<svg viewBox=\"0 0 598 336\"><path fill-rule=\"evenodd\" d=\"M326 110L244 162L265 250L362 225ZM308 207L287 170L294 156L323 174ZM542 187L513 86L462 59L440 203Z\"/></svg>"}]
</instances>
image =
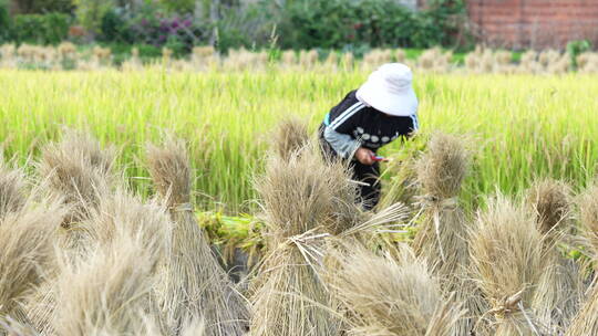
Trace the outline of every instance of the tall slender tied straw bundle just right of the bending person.
<instances>
[{"instance_id":1,"label":"tall slender tied straw bundle just right of the bending person","mask_svg":"<svg viewBox=\"0 0 598 336\"><path fill-rule=\"evenodd\" d=\"M468 224L457 199L468 166L470 155L463 140L440 133L432 136L426 151L415 164L422 189L419 197L422 218L413 249L433 274L443 280L443 290L457 292L468 314L475 316L483 309L483 303L468 280ZM472 327L472 319L462 319L457 335L468 333Z\"/></svg>"}]
</instances>

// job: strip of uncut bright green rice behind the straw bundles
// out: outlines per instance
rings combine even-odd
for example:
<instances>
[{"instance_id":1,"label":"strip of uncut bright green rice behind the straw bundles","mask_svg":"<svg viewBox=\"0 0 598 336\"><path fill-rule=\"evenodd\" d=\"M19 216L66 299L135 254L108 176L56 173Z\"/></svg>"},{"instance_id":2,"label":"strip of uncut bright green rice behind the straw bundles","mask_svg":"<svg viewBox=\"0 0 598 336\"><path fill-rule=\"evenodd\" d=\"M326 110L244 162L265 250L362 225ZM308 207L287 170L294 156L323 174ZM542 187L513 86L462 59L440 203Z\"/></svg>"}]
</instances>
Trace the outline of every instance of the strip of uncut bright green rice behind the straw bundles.
<instances>
[{"instance_id":1,"label":"strip of uncut bright green rice behind the straw bundles","mask_svg":"<svg viewBox=\"0 0 598 336\"><path fill-rule=\"evenodd\" d=\"M252 211L271 127L283 116L322 116L367 73L135 73L0 71L0 137L24 164L63 125L122 148L130 177L147 177L143 145L172 129L189 141L197 200L226 213ZM515 193L536 176L579 189L598 162L598 77L582 75L416 75L423 134L473 138L465 200L496 188ZM421 141L421 140L420 140ZM417 144L417 143L415 143ZM400 144L384 155L401 150ZM132 179L144 195L147 179Z\"/></svg>"}]
</instances>

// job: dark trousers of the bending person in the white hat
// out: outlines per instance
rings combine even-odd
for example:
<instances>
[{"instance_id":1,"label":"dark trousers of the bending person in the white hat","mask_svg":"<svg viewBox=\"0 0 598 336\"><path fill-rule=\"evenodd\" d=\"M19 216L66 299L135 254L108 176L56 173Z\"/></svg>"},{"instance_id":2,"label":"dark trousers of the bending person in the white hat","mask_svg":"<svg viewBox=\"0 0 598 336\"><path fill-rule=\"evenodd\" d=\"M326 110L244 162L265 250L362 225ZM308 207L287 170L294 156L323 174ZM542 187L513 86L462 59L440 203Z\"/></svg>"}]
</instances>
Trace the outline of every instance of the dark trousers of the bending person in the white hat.
<instances>
[{"instance_id":1,"label":"dark trousers of the bending person in the white hat","mask_svg":"<svg viewBox=\"0 0 598 336\"><path fill-rule=\"evenodd\" d=\"M323 137L324 125L319 128L320 149L327 161L341 159L337 151ZM365 210L373 209L380 201L380 165L374 162L372 166L362 165L358 160L349 159L349 169L351 169L352 179L359 183L358 202L363 203Z\"/></svg>"}]
</instances>

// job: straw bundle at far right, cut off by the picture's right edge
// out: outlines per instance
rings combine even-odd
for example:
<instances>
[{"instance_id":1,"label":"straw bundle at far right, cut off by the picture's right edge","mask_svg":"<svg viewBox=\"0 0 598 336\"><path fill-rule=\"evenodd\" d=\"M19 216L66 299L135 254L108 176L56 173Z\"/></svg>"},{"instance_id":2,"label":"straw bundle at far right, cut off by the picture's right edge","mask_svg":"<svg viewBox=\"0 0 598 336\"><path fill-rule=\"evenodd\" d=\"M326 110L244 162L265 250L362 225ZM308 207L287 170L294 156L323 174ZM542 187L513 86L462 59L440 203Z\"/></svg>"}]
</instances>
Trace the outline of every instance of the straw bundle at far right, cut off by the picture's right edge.
<instances>
[{"instance_id":1,"label":"straw bundle at far right, cut off by the picture's right edge","mask_svg":"<svg viewBox=\"0 0 598 336\"><path fill-rule=\"evenodd\" d=\"M584 239L596 261L598 255L598 185L591 186L580 198L579 214ZM567 336L598 334L598 286L594 282L581 309L571 322Z\"/></svg>"}]
</instances>

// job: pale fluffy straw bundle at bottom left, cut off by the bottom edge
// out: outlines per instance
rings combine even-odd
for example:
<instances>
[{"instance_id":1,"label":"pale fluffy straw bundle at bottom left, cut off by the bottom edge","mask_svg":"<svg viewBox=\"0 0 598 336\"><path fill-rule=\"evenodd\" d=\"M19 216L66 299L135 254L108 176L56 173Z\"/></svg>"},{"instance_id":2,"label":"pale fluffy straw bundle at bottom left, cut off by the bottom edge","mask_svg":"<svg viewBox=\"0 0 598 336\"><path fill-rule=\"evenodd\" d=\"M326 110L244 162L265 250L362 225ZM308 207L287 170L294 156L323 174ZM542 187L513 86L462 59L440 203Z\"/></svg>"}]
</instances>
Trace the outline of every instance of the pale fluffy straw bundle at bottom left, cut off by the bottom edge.
<instances>
[{"instance_id":1,"label":"pale fluffy straw bundle at bottom left, cut off by the bottom edge","mask_svg":"<svg viewBox=\"0 0 598 336\"><path fill-rule=\"evenodd\" d=\"M165 237L154 235L159 246ZM155 286L152 271L162 249L146 248L141 235L118 234L112 243L97 244L74 264L62 260L55 282L58 335L144 334L144 309Z\"/></svg>"}]
</instances>

